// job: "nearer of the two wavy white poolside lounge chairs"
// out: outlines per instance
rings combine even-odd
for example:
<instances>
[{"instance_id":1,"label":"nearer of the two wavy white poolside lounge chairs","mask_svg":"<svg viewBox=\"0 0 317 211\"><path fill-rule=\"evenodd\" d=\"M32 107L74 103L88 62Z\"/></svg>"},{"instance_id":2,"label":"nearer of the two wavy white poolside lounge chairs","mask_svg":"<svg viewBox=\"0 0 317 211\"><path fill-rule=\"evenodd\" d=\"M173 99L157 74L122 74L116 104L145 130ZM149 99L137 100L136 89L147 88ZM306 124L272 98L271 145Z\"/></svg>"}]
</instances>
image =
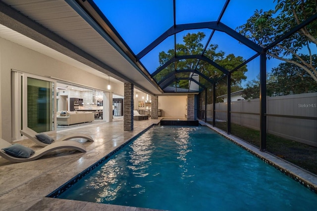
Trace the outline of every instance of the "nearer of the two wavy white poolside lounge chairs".
<instances>
[{"instance_id":1,"label":"nearer of the two wavy white poolside lounge chairs","mask_svg":"<svg viewBox=\"0 0 317 211\"><path fill-rule=\"evenodd\" d=\"M52 152L54 150L57 150L57 149L75 149L75 150L78 150L80 152L86 152L85 146L82 145L81 143L76 142L76 141L58 141L58 142L54 142L46 147L43 147L42 149L37 150L37 151L33 151L31 148L22 146L22 150L19 149L19 152L21 154L21 151L22 151L23 156L25 156L25 154L27 154L29 151L34 152L34 153L31 154L30 157L28 157L28 158L19 158L19 157L13 156L11 154L8 154L4 150L2 150L2 148L7 148L10 146L21 147L22 145L11 144L11 143L3 140L2 138L0 138L0 156L8 161L15 162L15 163L36 160L36 159L42 157L43 155L45 155L49 152ZM23 150L26 150L28 152L23 152Z\"/></svg>"}]
</instances>

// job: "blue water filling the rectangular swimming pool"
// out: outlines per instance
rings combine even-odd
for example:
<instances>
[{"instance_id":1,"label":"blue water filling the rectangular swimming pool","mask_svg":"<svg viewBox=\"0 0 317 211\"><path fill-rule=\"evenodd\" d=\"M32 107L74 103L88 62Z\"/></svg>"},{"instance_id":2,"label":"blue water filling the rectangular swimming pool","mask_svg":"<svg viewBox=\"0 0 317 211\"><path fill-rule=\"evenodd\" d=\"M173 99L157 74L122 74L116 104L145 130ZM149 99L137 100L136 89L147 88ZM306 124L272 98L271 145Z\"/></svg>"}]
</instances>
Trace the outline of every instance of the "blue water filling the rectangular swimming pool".
<instances>
[{"instance_id":1,"label":"blue water filling the rectangular swimming pool","mask_svg":"<svg viewBox=\"0 0 317 211\"><path fill-rule=\"evenodd\" d=\"M171 211L311 211L317 194L208 127L153 127L58 198Z\"/></svg>"}]
</instances>

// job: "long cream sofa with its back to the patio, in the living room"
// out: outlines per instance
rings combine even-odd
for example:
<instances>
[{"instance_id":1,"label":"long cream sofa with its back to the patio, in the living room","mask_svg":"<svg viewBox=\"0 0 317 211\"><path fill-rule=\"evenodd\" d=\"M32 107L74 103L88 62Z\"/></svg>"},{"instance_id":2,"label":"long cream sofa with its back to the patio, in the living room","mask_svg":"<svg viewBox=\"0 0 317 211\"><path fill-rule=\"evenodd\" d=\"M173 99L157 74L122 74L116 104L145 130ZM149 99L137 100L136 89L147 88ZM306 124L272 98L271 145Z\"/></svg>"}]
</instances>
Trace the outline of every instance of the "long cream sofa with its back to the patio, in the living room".
<instances>
[{"instance_id":1,"label":"long cream sofa with its back to the patio, in the living room","mask_svg":"<svg viewBox=\"0 0 317 211\"><path fill-rule=\"evenodd\" d=\"M62 114L61 114L62 113ZM88 123L95 120L95 114L92 112L84 111L67 111L57 112L57 125L59 126L69 126L79 123Z\"/></svg>"}]
</instances>

